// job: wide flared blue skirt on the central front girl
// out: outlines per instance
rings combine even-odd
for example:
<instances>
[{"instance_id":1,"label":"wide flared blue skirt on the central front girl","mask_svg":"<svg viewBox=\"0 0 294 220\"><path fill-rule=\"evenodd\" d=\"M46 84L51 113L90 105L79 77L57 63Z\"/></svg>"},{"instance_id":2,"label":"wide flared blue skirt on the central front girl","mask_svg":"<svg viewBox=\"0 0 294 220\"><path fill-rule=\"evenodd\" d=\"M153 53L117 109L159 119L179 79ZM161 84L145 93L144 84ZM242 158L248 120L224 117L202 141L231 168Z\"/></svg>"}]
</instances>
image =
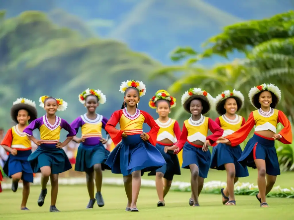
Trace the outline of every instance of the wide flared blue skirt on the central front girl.
<instances>
[{"instance_id":1,"label":"wide flared blue skirt on the central front girl","mask_svg":"<svg viewBox=\"0 0 294 220\"><path fill-rule=\"evenodd\" d=\"M140 134L129 135L110 152L105 162L112 173L128 176L132 172L156 170L166 164L163 156L155 146L143 141Z\"/></svg>"}]
</instances>

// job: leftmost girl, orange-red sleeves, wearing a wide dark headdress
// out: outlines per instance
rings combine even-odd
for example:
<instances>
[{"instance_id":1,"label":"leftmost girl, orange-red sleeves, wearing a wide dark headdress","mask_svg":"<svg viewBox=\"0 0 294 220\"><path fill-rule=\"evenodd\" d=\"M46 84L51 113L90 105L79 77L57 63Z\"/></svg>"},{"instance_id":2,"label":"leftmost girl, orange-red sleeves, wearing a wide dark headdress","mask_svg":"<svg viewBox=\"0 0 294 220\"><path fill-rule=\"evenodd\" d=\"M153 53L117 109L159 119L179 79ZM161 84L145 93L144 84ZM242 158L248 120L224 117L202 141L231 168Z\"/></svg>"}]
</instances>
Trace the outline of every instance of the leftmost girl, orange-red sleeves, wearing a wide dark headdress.
<instances>
[{"instance_id":1,"label":"leftmost girl, orange-red sleeves, wearing a wide dark headdress","mask_svg":"<svg viewBox=\"0 0 294 220\"><path fill-rule=\"evenodd\" d=\"M34 177L28 157L32 150L31 141L23 131L29 121L37 118L35 102L24 98L17 99L11 108L11 118L17 124L7 131L1 142L2 147L9 153L3 170L12 179L13 192L16 192L19 180L23 180L21 210L29 210L26 203L30 194L30 183Z\"/></svg>"}]
</instances>

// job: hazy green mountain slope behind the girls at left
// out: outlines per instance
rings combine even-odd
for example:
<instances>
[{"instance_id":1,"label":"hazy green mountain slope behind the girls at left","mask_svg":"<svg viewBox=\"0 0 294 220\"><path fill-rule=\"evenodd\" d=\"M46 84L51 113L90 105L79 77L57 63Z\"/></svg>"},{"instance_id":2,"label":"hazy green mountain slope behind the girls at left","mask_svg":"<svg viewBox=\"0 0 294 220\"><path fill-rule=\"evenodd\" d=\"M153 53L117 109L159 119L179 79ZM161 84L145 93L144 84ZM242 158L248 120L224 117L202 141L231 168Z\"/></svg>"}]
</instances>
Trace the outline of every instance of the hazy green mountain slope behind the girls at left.
<instances>
[{"instance_id":1,"label":"hazy green mountain slope behind the girls at left","mask_svg":"<svg viewBox=\"0 0 294 220\"><path fill-rule=\"evenodd\" d=\"M170 82L161 79L148 84L148 74L161 64L142 53L131 51L115 40L86 38L77 31L54 25L38 11L0 19L0 118L1 126L11 124L9 110L19 97L36 101L42 95L62 98L68 102L65 112L59 113L68 121L85 112L78 102L84 89L101 89L107 102L99 106L99 113L110 117L121 107L123 94L119 92L122 81L137 79L147 84L148 99ZM38 107L39 116L44 110Z\"/></svg>"}]
</instances>

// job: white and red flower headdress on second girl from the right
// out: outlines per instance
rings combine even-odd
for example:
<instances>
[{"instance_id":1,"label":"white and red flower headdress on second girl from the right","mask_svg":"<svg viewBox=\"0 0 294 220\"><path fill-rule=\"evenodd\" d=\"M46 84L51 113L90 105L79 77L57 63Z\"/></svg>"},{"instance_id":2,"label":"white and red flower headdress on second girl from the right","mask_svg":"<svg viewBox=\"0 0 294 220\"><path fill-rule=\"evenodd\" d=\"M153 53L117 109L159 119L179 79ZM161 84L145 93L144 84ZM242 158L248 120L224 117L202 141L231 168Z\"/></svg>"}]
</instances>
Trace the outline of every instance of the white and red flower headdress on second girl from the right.
<instances>
[{"instance_id":1,"label":"white and red flower headdress on second girl from the right","mask_svg":"<svg viewBox=\"0 0 294 220\"><path fill-rule=\"evenodd\" d=\"M231 92L230 90L225 90L221 94L219 94L215 99L216 111L219 115L225 114L225 109L223 108L223 101L228 98L234 98L236 100L238 105L237 111L239 111L243 107L245 99L240 91L237 91L235 89L233 90L233 92Z\"/></svg>"}]
</instances>

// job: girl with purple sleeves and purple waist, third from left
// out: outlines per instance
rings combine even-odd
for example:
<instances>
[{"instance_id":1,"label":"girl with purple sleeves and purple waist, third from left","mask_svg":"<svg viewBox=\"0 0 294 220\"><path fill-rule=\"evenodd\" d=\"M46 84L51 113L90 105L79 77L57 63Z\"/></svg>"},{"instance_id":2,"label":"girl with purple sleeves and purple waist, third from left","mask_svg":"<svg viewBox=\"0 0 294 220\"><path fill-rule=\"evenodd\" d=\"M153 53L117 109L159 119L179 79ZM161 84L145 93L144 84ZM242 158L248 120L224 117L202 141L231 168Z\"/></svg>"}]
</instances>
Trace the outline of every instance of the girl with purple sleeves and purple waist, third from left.
<instances>
[{"instance_id":1,"label":"girl with purple sleeves and purple waist, third from left","mask_svg":"<svg viewBox=\"0 0 294 220\"><path fill-rule=\"evenodd\" d=\"M75 170L86 172L87 189L90 201L87 209L92 209L95 201L99 207L104 206L101 194L102 170L110 169L104 164L109 155L109 151L104 145L107 141L102 138L101 130L105 129L108 121L104 116L96 113L99 104L106 102L105 95L100 90L86 89L79 95L79 101L87 108L87 113L79 116L71 123L71 127L76 130L81 127L82 137L74 137L74 140L81 143L76 156ZM96 183L96 195L94 198L94 172Z\"/></svg>"}]
</instances>

